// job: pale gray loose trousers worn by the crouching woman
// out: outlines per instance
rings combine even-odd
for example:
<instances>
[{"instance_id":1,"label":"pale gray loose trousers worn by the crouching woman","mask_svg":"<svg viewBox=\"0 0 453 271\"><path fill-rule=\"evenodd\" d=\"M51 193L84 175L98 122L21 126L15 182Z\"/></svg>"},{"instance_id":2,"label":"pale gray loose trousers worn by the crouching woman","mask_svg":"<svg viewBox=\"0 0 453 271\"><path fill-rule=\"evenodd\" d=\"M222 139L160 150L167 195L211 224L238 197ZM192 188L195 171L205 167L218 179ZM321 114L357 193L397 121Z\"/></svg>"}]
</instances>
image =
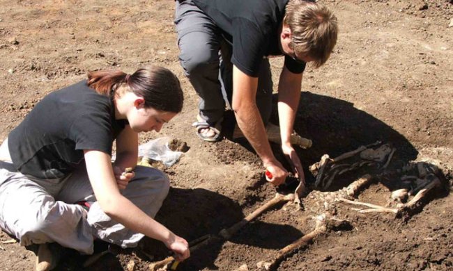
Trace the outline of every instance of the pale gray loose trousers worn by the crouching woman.
<instances>
[{"instance_id":1,"label":"pale gray loose trousers worn by the crouching woman","mask_svg":"<svg viewBox=\"0 0 453 271\"><path fill-rule=\"evenodd\" d=\"M6 144L7 140L0 147L3 157ZM154 217L168 191L169 179L163 172L137 166L122 194ZM95 237L123 248L137 246L144 235L112 220L95 200L84 166L66 179L43 180L15 172L10 162L0 161L0 228L21 245L56 242L92 254ZM87 212L75 204L79 201L94 203Z\"/></svg>"}]
</instances>

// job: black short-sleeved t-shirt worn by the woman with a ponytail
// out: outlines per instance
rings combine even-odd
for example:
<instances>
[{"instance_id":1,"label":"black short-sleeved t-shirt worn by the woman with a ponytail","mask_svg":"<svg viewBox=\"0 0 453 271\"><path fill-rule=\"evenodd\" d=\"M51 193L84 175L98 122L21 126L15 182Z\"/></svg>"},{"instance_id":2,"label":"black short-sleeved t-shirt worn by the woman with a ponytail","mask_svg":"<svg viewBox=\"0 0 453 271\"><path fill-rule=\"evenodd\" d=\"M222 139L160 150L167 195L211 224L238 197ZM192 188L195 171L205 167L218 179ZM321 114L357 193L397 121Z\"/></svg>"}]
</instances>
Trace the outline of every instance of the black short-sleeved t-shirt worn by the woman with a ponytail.
<instances>
[{"instance_id":1,"label":"black short-sleeved t-shirt worn by the woman with a ponytail","mask_svg":"<svg viewBox=\"0 0 453 271\"><path fill-rule=\"evenodd\" d=\"M8 136L13 163L40 179L67 176L84 161L84 150L112 154L126 120L115 120L110 97L81 81L44 97Z\"/></svg>"}]
</instances>

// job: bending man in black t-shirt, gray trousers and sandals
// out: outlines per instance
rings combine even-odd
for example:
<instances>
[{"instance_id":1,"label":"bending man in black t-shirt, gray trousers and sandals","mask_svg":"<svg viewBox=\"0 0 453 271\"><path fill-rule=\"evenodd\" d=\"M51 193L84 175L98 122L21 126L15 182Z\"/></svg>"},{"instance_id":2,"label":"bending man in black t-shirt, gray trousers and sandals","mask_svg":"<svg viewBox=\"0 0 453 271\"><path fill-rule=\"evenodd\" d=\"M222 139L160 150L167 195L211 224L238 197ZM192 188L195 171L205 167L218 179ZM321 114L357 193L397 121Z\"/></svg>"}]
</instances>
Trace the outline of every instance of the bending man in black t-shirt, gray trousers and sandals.
<instances>
[{"instance_id":1,"label":"bending man in black t-shirt, gray trousers and sandals","mask_svg":"<svg viewBox=\"0 0 453 271\"><path fill-rule=\"evenodd\" d=\"M337 41L337 18L304 0L178 0L175 23L181 65L200 97L198 136L220 139L227 101L275 186L288 172L266 136L272 110L268 58L284 56L278 84L282 150L303 183L302 164L290 142L302 72L307 62L319 67L328 60Z\"/></svg>"}]
</instances>

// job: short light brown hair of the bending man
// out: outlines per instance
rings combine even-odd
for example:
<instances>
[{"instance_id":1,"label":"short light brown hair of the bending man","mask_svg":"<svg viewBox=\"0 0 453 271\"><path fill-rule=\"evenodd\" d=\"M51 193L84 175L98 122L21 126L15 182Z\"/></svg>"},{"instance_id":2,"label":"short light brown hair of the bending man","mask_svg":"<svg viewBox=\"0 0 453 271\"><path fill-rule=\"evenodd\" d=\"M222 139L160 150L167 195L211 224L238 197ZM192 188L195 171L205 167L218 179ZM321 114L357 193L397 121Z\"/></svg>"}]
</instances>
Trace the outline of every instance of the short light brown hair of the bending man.
<instances>
[{"instance_id":1,"label":"short light brown hair of the bending man","mask_svg":"<svg viewBox=\"0 0 453 271\"><path fill-rule=\"evenodd\" d=\"M290 0L284 24L291 29L296 55L313 58L315 67L328 60L338 35L337 17L329 8L310 1Z\"/></svg>"}]
</instances>

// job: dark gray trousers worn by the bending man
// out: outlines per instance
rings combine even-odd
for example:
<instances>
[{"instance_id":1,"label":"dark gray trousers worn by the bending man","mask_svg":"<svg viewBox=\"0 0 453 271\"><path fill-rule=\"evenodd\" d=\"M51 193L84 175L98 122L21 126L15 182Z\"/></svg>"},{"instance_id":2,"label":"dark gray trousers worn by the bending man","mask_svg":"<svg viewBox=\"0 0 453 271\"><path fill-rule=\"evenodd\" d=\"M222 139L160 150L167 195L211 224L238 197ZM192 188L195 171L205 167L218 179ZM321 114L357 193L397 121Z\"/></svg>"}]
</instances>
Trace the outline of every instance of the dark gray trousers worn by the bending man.
<instances>
[{"instance_id":1,"label":"dark gray trousers worn by the bending man","mask_svg":"<svg viewBox=\"0 0 453 271\"><path fill-rule=\"evenodd\" d=\"M201 117L215 124L224 115L225 101L231 108L231 44L222 38L220 28L191 0L176 1L175 17L181 66L200 97ZM256 105L264 124L267 124L272 111L272 76L267 58L263 58L258 78Z\"/></svg>"}]
</instances>

